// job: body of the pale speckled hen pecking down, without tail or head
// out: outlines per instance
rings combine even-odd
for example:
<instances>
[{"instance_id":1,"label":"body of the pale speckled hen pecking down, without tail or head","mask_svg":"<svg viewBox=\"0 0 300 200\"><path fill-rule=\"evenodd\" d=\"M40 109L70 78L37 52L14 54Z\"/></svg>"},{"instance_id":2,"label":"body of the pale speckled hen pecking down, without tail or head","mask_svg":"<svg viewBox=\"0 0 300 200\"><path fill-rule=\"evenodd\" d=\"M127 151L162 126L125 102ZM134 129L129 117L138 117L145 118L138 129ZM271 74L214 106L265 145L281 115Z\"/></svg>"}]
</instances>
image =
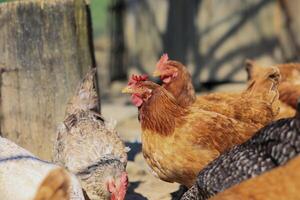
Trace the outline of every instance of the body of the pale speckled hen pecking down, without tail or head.
<instances>
[{"instance_id":1,"label":"body of the pale speckled hen pecking down, without tail or head","mask_svg":"<svg viewBox=\"0 0 300 200\"><path fill-rule=\"evenodd\" d=\"M89 199L110 199L105 182L119 181L125 173L124 144L94 113L79 113L68 120L75 123L65 126L65 121L59 127L55 161L77 175Z\"/></svg>"}]
</instances>

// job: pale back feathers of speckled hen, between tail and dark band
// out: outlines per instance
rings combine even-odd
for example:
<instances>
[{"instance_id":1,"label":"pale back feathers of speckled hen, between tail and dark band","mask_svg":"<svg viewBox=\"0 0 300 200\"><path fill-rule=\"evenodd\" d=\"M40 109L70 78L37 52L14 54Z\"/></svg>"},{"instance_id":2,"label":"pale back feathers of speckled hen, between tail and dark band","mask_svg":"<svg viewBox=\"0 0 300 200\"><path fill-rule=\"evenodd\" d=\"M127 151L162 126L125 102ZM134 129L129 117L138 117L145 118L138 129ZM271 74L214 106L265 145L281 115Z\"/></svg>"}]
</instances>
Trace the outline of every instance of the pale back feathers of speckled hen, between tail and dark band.
<instances>
[{"instance_id":1,"label":"pale back feathers of speckled hen, between tail and dark band","mask_svg":"<svg viewBox=\"0 0 300 200\"><path fill-rule=\"evenodd\" d=\"M115 130L107 129L105 123L93 113L73 116L77 119L71 127L62 125L57 136L56 160L76 173L98 162L103 156L127 163L127 149Z\"/></svg>"}]
</instances>

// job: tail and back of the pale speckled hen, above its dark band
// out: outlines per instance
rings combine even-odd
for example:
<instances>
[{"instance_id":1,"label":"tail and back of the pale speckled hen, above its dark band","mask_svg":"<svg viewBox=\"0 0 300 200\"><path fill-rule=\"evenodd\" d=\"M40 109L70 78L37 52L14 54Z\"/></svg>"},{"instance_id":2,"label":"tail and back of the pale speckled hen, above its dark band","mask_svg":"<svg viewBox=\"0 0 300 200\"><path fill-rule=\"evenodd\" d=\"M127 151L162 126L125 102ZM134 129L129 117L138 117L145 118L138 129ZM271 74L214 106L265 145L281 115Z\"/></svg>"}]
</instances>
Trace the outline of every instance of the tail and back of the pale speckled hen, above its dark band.
<instances>
[{"instance_id":1,"label":"tail and back of the pale speckled hen, above its dark band","mask_svg":"<svg viewBox=\"0 0 300 200\"><path fill-rule=\"evenodd\" d=\"M76 173L103 157L127 163L127 148L111 124L97 113L96 70L90 70L66 108L66 118L57 131L54 160Z\"/></svg>"}]
</instances>

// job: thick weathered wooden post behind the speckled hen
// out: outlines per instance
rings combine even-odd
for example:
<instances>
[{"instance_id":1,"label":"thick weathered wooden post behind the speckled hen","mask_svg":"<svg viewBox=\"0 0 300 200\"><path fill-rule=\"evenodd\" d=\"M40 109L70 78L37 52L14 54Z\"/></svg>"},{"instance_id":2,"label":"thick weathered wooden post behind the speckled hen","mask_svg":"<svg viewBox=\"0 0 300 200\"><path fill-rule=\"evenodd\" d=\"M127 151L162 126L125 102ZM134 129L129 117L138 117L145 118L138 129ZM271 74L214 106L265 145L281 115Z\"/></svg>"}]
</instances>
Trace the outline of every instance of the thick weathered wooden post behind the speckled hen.
<instances>
[{"instance_id":1,"label":"thick weathered wooden post behind the speckled hen","mask_svg":"<svg viewBox=\"0 0 300 200\"><path fill-rule=\"evenodd\" d=\"M84 0L0 4L1 134L50 159L56 126L90 67Z\"/></svg>"}]
</instances>

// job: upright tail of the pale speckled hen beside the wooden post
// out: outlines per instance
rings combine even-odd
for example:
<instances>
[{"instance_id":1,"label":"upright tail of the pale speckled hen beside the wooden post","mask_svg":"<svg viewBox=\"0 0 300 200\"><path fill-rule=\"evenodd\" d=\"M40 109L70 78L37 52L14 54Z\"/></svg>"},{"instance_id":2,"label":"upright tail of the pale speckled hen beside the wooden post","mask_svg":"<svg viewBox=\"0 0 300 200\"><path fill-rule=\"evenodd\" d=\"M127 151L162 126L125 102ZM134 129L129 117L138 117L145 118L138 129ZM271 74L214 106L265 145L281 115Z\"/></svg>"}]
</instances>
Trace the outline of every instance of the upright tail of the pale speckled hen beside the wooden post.
<instances>
[{"instance_id":1,"label":"upright tail of the pale speckled hen beside the wooden post","mask_svg":"<svg viewBox=\"0 0 300 200\"><path fill-rule=\"evenodd\" d=\"M66 115L75 114L78 111L99 111L99 98L94 83L96 68L91 69L76 90L66 108Z\"/></svg>"}]
</instances>

